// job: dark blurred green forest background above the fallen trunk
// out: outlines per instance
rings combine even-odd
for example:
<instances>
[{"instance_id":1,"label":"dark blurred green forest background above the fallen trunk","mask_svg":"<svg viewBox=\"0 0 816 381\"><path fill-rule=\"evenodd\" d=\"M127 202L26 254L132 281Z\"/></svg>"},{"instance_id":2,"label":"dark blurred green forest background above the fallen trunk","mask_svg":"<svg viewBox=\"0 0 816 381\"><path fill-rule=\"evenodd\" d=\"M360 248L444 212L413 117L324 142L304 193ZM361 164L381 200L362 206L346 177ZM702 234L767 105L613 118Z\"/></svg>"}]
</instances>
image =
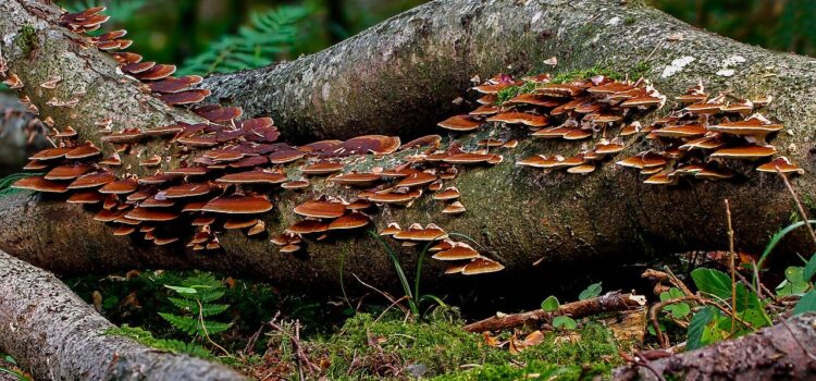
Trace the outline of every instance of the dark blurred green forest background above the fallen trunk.
<instances>
[{"instance_id":1,"label":"dark blurred green forest background above the fallen trunk","mask_svg":"<svg viewBox=\"0 0 816 381\"><path fill-rule=\"evenodd\" d=\"M60 0L104 3L146 59L206 74L290 60L336 44L424 0ZM816 56L816 0L647 0L695 26ZM226 51L226 52L225 52ZM225 57L226 54L226 57ZM213 65L213 62L218 64Z\"/></svg>"}]
</instances>

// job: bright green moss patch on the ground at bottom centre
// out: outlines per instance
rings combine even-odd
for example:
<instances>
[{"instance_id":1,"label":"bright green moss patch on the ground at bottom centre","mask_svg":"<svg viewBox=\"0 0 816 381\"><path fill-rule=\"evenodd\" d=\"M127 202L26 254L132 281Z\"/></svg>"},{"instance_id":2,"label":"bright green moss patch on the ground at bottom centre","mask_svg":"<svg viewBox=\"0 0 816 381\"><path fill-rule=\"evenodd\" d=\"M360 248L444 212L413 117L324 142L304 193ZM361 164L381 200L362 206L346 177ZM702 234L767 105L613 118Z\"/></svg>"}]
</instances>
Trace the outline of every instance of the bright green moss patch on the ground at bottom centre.
<instances>
[{"instance_id":1,"label":"bright green moss patch on the ground at bottom centre","mask_svg":"<svg viewBox=\"0 0 816 381\"><path fill-rule=\"evenodd\" d=\"M617 343L598 323L586 323L569 339L546 333L543 343L514 355L462 330L463 323L455 315L436 315L426 321L405 322L396 314L379 320L359 314L338 333L316 341L311 353L329 358L331 366L324 376L332 380L393 376L384 369L438 380L519 379L551 371L560 374L558 379L578 380L588 370L608 373L618 364ZM463 365L478 368L463 370Z\"/></svg>"}]
</instances>

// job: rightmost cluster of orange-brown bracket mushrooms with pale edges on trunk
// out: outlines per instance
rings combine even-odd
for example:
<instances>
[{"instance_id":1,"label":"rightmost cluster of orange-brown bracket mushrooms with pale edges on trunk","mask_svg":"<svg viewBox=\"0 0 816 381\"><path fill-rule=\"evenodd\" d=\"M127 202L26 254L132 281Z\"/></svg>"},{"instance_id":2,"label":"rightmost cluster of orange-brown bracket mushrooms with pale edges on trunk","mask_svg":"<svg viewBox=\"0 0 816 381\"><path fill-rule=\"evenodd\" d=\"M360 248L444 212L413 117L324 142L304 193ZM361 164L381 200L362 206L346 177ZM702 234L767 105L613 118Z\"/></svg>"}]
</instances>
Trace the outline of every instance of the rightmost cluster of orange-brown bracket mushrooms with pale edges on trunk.
<instances>
[{"instance_id":1,"label":"rightmost cluster of orange-brown bracket mushrooms with pale edges on trunk","mask_svg":"<svg viewBox=\"0 0 816 381\"><path fill-rule=\"evenodd\" d=\"M646 184L673 185L681 177L731 179L756 161L767 161L756 170L796 173L803 171L786 157L769 160L777 149L767 139L782 130L757 109L770 97L754 100L724 93L710 97L702 84L676 98L681 108L640 128L650 149L620 160L618 165L648 175Z\"/></svg>"}]
</instances>

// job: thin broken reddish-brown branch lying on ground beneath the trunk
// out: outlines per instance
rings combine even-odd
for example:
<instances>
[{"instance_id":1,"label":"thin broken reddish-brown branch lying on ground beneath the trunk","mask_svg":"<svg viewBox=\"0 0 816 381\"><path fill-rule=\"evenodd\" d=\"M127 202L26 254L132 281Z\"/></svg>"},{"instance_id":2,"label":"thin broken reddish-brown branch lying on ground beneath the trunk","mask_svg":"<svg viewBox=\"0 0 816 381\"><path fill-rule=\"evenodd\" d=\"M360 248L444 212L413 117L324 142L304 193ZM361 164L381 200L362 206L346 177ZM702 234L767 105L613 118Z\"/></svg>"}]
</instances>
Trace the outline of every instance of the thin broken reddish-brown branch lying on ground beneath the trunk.
<instances>
[{"instance_id":1,"label":"thin broken reddish-brown branch lying on ground beneath the trunk","mask_svg":"<svg viewBox=\"0 0 816 381\"><path fill-rule=\"evenodd\" d=\"M465 325L465 330L468 332L500 331L527 324L541 324L551 321L557 316L580 319L598 314L636 309L643 307L645 303L646 299L643 296L615 292L585 300L571 302L559 306L553 312L537 309L521 314L497 315Z\"/></svg>"}]
</instances>

